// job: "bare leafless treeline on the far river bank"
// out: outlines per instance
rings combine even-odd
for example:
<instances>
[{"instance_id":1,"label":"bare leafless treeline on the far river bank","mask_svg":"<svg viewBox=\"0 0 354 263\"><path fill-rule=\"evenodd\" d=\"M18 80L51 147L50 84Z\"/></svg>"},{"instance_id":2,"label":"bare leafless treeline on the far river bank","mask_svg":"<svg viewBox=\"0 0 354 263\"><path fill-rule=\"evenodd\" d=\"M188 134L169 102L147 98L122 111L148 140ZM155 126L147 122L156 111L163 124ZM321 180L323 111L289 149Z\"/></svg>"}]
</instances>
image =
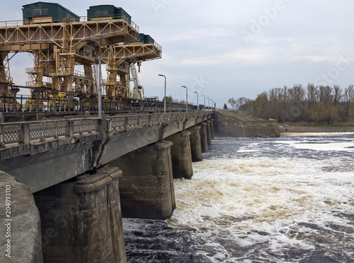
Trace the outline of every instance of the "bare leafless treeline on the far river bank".
<instances>
[{"instance_id":1,"label":"bare leafless treeline on the far river bank","mask_svg":"<svg viewBox=\"0 0 354 263\"><path fill-rule=\"evenodd\" d=\"M241 103L241 101L242 103ZM313 121L319 124L348 122L354 119L354 86L295 85L272 88L257 95L256 100L240 98L236 110L247 110L255 117L278 119L280 122ZM237 103L236 103L237 102Z\"/></svg>"}]
</instances>

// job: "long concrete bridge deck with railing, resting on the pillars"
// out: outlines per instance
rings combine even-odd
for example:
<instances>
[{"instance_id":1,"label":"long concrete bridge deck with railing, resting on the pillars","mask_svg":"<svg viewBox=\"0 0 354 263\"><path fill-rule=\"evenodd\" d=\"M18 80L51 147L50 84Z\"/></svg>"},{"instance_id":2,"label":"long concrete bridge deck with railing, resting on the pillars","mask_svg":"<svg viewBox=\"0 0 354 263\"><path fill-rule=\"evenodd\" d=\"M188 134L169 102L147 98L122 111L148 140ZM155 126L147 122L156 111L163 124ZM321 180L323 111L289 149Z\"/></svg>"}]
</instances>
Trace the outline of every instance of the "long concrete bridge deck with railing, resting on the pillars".
<instances>
[{"instance_id":1,"label":"long concrete bridge deck with railing, resting on the pillars","mask_svg":"<svg viewBox=\"0 0 354 263\"><path fill-rule=\"evenodd\" d=\"M1 124L1 170L38 192L193 127L213 113Z\"/></svg>"}]
</instances>

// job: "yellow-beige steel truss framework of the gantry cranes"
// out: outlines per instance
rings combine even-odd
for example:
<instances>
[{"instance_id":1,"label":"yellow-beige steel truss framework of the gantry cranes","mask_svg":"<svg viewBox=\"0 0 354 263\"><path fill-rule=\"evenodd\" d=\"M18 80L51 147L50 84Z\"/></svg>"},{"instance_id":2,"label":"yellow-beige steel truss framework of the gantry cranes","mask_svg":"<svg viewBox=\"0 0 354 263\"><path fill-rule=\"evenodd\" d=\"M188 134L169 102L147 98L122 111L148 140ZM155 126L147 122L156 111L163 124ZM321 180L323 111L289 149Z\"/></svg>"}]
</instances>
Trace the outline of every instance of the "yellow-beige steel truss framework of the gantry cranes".
<instances>
[{"instance_id":1,"label":"yellow-beige steel truss framework of the gantry cranes","mask_svg":"<svg viewBox=\"0 0 354 263\"><path fill-rule=\"evenodd\" d=\"M86 93L92 98L92 94L97 94L93 64L98 61L98 47L93 47L95 54L87 57L83 49L87 48L90 39L100 42L103 47L102 62L107 64L108 75L108 81L103 83L106 94L128 98L129 64L161 58L161 47L155 42L137 43L139 28L124 17L81 20L27 25L19 21L0 23L0 83L13 84L8 66L9 52L29 52L34 66L26 69L29 76L26 86L33 92L40 90L39 97L74 92ZM124 42L130 44L123 45ZM82 65L84 72L76 71L77 65ZM43 77L51 82L44 82ZM1 87L1 94L16 96L10 88ZM48 88L52 92L47 91ZM33 98L38 98L38 92L33 93Z\"/></svg>"}]
</instances>

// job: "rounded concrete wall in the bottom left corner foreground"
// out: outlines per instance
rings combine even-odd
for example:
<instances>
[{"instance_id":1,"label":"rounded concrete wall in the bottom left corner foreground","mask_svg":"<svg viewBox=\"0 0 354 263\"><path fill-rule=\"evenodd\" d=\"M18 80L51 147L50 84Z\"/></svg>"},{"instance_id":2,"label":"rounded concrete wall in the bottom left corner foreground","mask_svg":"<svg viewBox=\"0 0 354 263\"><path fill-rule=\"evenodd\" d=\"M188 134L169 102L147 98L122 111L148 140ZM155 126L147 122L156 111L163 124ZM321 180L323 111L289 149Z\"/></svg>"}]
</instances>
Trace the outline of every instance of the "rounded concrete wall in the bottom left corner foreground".
<instances>
[{"instance_id":1,"label":"rounded concrete wall in the bottom left corner foreground","mask_svg":"<svg viewBox=\"0 0 354 263\"><path fill-rule=\"evenodd\" d=\"M42 262L40 214L30 189L0 171L0 197L0 262Z\"/></svg>"}]
</instances>

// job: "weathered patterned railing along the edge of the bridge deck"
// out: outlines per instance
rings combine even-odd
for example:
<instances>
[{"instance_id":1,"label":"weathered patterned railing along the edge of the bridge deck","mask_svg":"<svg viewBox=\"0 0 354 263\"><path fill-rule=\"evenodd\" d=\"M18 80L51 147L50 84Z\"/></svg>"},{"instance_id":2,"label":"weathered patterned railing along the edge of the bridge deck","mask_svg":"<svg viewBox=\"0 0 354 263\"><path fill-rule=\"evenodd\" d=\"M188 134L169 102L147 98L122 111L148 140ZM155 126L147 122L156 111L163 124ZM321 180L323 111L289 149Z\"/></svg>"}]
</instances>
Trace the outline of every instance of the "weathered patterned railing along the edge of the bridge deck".
<instances>
[{"instance_id":1,"label":"weathered patterned railing along the edge of the bridge deck","mask_svg":"<svg viewBox=\"0 0 354 263\"><path fill-rule=\"evenodd\" d=\"M169 114L150 115L118 115L107 119L81 118L44 120L36 122L9 122L0 124L0 147L6 144L30 144L30 141L45 141L45 139L57 139L59 136L72 137L75 134L91 134L94 131L109 132L120 130L128 131L140 129L144 125L158 125L171 121L183 121L195 117L207 117L211 112L178 112ZM101 122L107 121L108 129L103 129Z\"/></svg>"}]
</instances>

